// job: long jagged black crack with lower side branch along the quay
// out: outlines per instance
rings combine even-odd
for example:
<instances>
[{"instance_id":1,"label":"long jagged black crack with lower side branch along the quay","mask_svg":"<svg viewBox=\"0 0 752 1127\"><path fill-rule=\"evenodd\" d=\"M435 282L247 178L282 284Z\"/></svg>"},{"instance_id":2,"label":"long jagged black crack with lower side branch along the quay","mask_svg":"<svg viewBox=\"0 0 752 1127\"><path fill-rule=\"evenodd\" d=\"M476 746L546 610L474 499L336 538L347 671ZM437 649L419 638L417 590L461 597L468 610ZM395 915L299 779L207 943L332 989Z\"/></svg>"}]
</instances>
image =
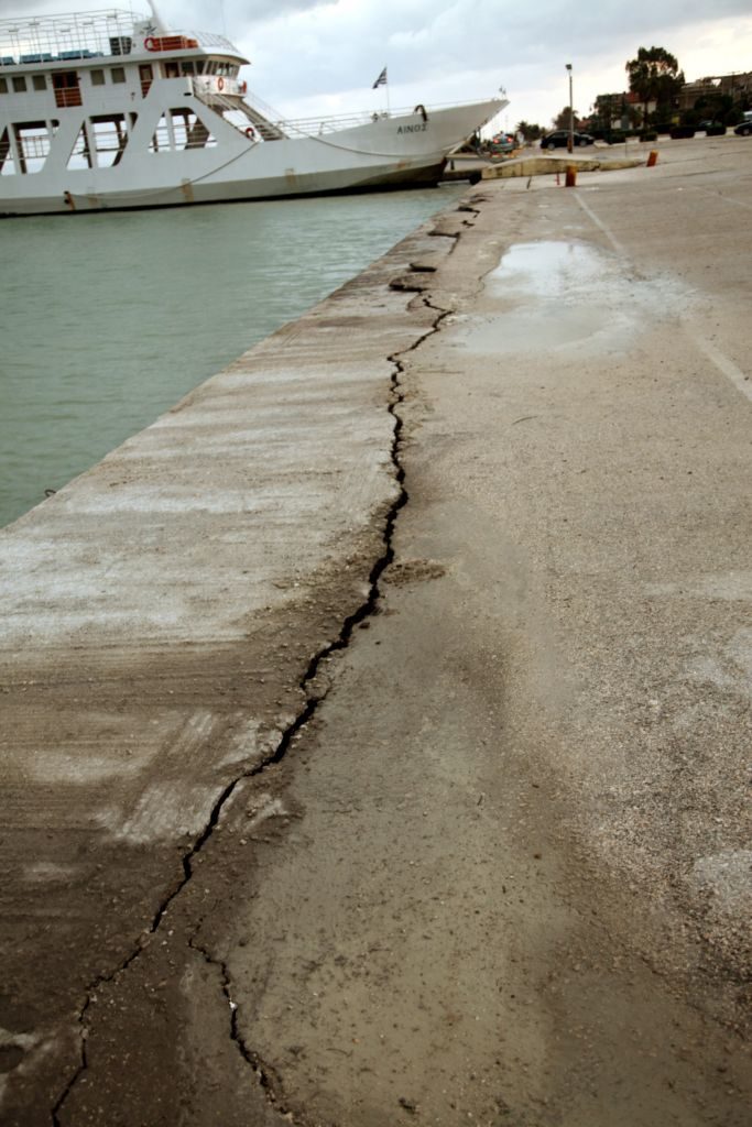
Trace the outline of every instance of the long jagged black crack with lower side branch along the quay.
<instances>
[{"instance_id":1,"label":"long jagged black crack with lower side branch along the quay","mask_svg":"<svg viewBox=\"0 0 752 1127\"><path fill-rule=\"evenodd\" d=\"M431 233L440 233L440 232L431 232ZM441 233L444 233L444 232L441 232ZM459 240L461 238L461 233L459 233L459 232L458 233L453 233L453 234L451 234L449 237L453 239L453 243L454 243L452 246L452 249L450 250L450 254L452 254L454 251L454 249L457 248L457 245L458 245L458 242L459 242ZM335 653L338 653L342 649L346 649L347 646L351 642L351 639L352 639L352 636L353 636L353 631L355 630L355 628L361 622L363 622L364 619L366 619L366 618L369 618L369 616L378 613L378 603L379 603L379 600L381 597L380 589L379 589L379 580L380 580L382 574L384 573L384 570L393 561L393 558L395 558L393 535L395 535L395 527L396 527L396 524L397 524L397 518L399 516L399 512L405 507L405 505L409 500L409 495L408 495L407 489L405 487L405 469L404 469L404 467L401 464L401 458L400 458L401 441L402 441L401 434L402 434L402 426L404 426L404 424L402 424L402 419L399 416L398 410L399 410L400 405L405 401L405 393L404 393L402 387L401 387L401 375L402 375L402 373L405 371L405 365L402 364L402 362L401 362L401 360L399 357L400 356L405 356L408 353L415 352L417 348L419 348L423 345L423 343L428 339L428 337L433 336L435 332L439 331L441 322L444 320L445 317L448 317L451 313L451 310L441 309L440 307L434 305L431 302L430 298L427 298L427 296L423 296L422 298L422 302L423 302L423 304L424 304L424 307L426 309L431 309L435 313L437 313L436 318L434 319L434 322L433 322L432 327L426 332L422 334L408 348L405 348L400 353L393 353L392 355L390 355L390 356L387 357L388 361L391 364L395 365L395 371L391 374L391 384L390 384L390 392L389 392L389 406L388 406L387 409L388 409L388 412L393 418L393 431L392 431L392 441L391 441L391 452L390 452L390 455L391 455L392 468L393 468L393 471L395 471L395 479L396 479L396 481L397 481L397 483L399 486L399 494L398 494L397 498L392 502L392 504L390 505L390 507L389 507L389 509L387 512L387 516L386 516L386 521L384 521L384 529L383 529L383 552L375 560L375 562L373 564L373 566L371 568L371 571L369 574L369 593L368 593L368 597L364 600L364 602L357 607L357 610L353 614L348 615L344 620L338 637L335 638L334 641L329 642L327 646L322 647L322 649L319 650L317 654L315 654L313 657L311 658L311 660L309 662L308 668L306 669L306 673L304 673L303 677L301 678L300 685L299 685L300 689L303 691L303 693L308 698L307 703L303 707L303 709L300 711L300 713L295 717L295 719L287 726L287 728L285 729L285 731L282 734L282 738L280 739L276 748L274 751L272 751L272 753L268 754L262 763L257 763L249 771L242 771L239 775L237 775L237 778L235 778L233 780L231 780L223 788L223 790L221 791L220 796L218 797L216 801L214 802L214 805L212 807L210 817L207 819L207 823L206 823L204 829L198 835L198 837L195 840L195 842L194 842L193 846L191 848L191 850L182 858L182 866L183 866L183 876L182 876L182 878L176 882L176 885L171 889L171 891L169 891L168 895L165 897L165 899L161 902L159 908L154 913L154 916L152 919L152 922L151 922L151 925L150 925L149 930L145 931L145 932L143 932L140 935L139 941L138 941L135 948L131 951L131 953L127 956L127 958L125 958L121 962L121 965L115 968L115 970L112 974L109 974L109 975L101 975L101 976L97 977L94 980L94 983L89 986L89 988L87 991L86 1002L82 1005L82 1008L81 1008L81 1010L80 1010L80 1012L78 1014L78 1019L77 1019L79 1026L81 1027L81 1033L80 1033L80 1038L81 1038L81 1058L80 1058L80 1063L79 1063L76 1072L73 1073L73 1075L69 1080L68 1084L63 1089L63 1091L62 1091L61 1095L59 1097L57 1101L55 1102L54 1107L52 1108L51 1119L52 1119L53 1127L63 1127L61 1116L63 1113L64 1106L65 1106L67 1101L69 1100L69 1098L70 1098L73 1089L77 1085L77 1083L79 1082L79 1080L81 1079L81 1076L83 1075L83 1073L88 1068L88 1057L87 1057L87 1050L86 1050L86 1042L87 1042L87 1038L88 1038L87 1013L89 1011L89 1008L92 1005L92 1003L96 1000L96 993L97 993L97 991L99 990L100 986L103 986L105 984L108 984L108 983L115 982L139 958L139 956L144 950L144 948L149 946L149 943L151 941L151 938L157 934L157 932L158 932L158 930L159 930L159 928L160 928L160 925L162 923L162 920L165 919L165 915L167 914L170 905L172 904L172 902L175 900L175 898L177 896L179 896L179 894L183 891L183 889L188 884L188 881L193 878L193 876L194 876L193 863L194 863L195 859L198 857L198 854L202 852L202 850L204 849L204 846L206 845L206 843L211 840L211 837L212 837L212 835L213 835L213 833L214 833L214 831L215 831L215 828L216 828L216 826L219 824L219 820L220 820L220 817L222 815L222 811L224 810L224 808L227 807L228 802L232 798L232 795L235 793L235 791L238 788L238 786L242 781L245 781L247 779L253 779L253 778L256 778L257 775L263 774L271 766L280 763L284 758L284 756L286 755L286 753L287 753L287 751L290 748L290 745L293 742L293 739L297 737L297 735L301 731L301 729L304 728L306 725L309 722L309 720L312 718L313 713L316 712L316 710L317 710L318 706L321 703L321 701L326 700L326 696L327 696L328 691L329 691L328 687L324 692L311 693L309 691L310 687L316 683L316 678L318 676L319 671L322 668L324 663L329 657L331 657ZM189 946L193 946L193 944L191 943ZM207 962L210 962L212 965L215 965L215 966L218 966L220 968L221 974L222 974L222 978L223 978L223 987L222 987L223 988L223 993L225 994L225 996L228 999L228 1002L230 1003L230 1009L231 1009L231 1014L232 1014L232 1017L231 1017L231 1039L237 1044L238 1051L241 1054L241 1056L244 1057L244 1059L256 1072L256 1074L258 1076L258 1080L259 1080L259 1084L263 1088L263 1090L265 1091L267 1100L275 1107L276 1110L280 1110L282 1115L287 1116L289 1121L290 1121L291 1112L282 1110L282 1106L281 1106L281 1102L280 1102L281 1095L278 1094L282 1091L282 1085L278 1082L278 1077L276 1076L274 1070L271 1066L266 1065L262 1061L262 1058L258 1056L258 1054L256 1054L253 1050L250 1050L245 1045L245 1042L242 1040L242 1037L240 1036L240 1032L239 1032L239 1029L238 1029L238 1017L237 1017L238 1010L237 1010L237 1005L232 1002L232 999L231 999L231 992L230 992L231 979L230 979L230 976L229 976L229 971L228 971L227 965L224 962L222 962L221 960L214 960L214 959L212 959L212 957L209 955L209 952L204 951L202 948L195 947L194 950L200 950L201 953L204 956L204 958L206 959ZM292 1120L292 1121L294 1122L294 1120Z\"/></svg>"}]
</instances>

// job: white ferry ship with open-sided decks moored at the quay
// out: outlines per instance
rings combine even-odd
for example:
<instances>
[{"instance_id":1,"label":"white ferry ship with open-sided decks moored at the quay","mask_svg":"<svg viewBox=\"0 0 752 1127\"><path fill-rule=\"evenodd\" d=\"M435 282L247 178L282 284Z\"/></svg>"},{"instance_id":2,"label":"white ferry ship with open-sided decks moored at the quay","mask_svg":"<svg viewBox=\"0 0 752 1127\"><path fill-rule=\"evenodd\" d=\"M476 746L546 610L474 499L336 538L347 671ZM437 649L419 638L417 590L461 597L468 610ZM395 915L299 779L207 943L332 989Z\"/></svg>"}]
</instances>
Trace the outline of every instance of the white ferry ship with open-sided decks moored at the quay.
<instances>
[{"instance_id":1,"label":"white ferry ship with open-sided decks moored at the quay","mask_svg":"<svg viewBox=\"0 0 752 1127\"><path fill-rule=\"evenodd\" d=\"M0 20L0 214L431 185L506 99L281 121L220 35L121 9Z\"/></svg>"}]
</instances>

